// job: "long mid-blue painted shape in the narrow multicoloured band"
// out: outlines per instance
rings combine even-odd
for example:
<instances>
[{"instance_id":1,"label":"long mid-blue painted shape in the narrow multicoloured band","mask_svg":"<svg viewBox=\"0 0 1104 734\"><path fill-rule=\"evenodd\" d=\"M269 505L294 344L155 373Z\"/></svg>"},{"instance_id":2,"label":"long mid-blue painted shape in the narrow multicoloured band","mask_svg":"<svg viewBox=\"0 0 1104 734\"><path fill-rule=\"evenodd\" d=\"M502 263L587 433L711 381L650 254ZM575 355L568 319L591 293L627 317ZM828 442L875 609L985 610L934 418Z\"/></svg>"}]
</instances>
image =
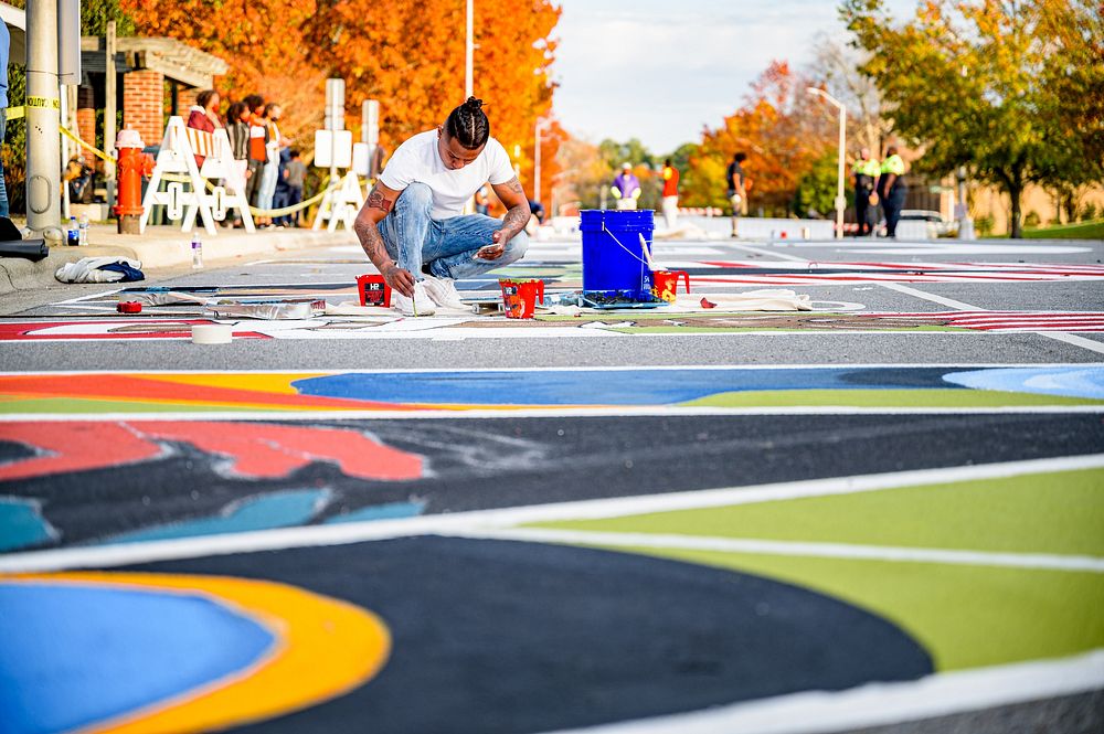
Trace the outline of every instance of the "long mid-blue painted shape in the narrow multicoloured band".
<instances>
[{"instance_id":1,"label":"long mid-blue painted shape in the narrow multicoloured band","mask_svg":"<svg viewBox=\"0 0 1104 734\"><path fill-rule=\"evenodd\" d=\"M753 390L943 387L945 369L541 370L344 373L297 380L304 395L394 404L671 405Z\"/></svg>"}]
</instances>

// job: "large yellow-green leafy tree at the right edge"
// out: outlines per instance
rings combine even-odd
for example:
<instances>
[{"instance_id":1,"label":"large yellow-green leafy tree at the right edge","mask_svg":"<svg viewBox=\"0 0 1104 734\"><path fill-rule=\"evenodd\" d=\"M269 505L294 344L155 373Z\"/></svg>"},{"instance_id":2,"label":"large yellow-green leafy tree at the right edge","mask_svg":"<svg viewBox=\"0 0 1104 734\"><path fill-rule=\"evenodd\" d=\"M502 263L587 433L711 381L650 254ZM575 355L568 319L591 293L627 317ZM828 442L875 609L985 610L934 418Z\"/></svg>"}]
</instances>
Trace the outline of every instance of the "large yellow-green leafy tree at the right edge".
<instances>
[{"instance_id":1,"label":"large yellow-green leafy tree at the right edge","mask_svg":"<svg viewBox=\"0 0 1104 734\"><path fill-rule=\"evenodd\" d=\"M1028 183L1101 177L1104 33L1094 4L927 0L904 25L882 0L845 0L840 13L871 54L862 71L896 132L924 148L917 171L966 166L998 185L1020 237Z\"/></svg>"}]
</instances>

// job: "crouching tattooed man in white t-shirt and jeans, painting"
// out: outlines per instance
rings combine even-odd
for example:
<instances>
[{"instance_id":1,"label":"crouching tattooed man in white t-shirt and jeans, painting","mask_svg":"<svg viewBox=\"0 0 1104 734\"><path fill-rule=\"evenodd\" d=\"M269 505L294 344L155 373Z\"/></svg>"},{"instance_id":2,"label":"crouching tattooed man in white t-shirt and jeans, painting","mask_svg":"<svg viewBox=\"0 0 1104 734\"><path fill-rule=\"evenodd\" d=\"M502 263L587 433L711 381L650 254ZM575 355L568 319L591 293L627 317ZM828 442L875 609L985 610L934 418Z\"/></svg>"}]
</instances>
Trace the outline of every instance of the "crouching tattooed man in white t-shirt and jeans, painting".
<instances>
[{"instance_id":1,"label":"crouching tattooed man in white t-shirt and jeans, painting","mask_svg":"<svg viewBox=\"0 0 1104 734\"><path fill-rule=\"evenodd\" d=\"M488 182L509 208L506 217L463 216L464 205ZM353 228L391 286L393 308L428 316L437 306L464 308L457 278L524 256L529 214L510 158L490 137L482 100L468 97L444 125L399 146Z\"/></svg>"}]
</instances>

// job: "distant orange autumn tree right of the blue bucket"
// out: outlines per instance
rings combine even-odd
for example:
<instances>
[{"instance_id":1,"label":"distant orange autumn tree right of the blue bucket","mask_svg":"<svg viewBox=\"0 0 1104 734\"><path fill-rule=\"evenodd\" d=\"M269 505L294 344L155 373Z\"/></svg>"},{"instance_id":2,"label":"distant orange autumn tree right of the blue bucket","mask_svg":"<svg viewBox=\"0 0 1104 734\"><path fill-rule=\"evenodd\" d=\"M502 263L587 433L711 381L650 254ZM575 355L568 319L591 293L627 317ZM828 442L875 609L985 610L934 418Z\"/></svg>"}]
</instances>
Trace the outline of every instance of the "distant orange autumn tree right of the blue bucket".
<instances>
[{"instance_id":1,"label":"distant orange autumn tree right of the blue bucket","mask_svg":"<svg viewBox=\"0 0 1104 734\"><path fill-rule=\"evenodd\" d=\"M689 157L682 199L688 206L726 208L724 171L732 156L743 151L743 167L752 180L751 211L783 215L793 204L798 182L830 150L835 126L828 111L809 97L810 81L774 62L752 84L743 107L707 129Z\"/></svg>"}]
</instances>

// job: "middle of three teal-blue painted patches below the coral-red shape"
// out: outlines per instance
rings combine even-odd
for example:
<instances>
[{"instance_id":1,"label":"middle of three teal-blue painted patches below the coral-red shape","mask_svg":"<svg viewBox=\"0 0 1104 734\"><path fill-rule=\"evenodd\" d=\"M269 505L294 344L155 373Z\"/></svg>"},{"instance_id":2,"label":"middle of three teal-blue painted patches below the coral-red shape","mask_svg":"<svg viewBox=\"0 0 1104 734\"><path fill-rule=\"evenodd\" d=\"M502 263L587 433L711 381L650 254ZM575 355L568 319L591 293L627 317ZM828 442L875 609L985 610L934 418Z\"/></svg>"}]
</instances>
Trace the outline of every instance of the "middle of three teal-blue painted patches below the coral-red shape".
<instances>
[{"instance_id":1,"label":"middle of three teal-blue painted patches below the coral-red shape","mask_svg":"<svg viewBox=\"0 0 1104 734\"><path fill-rule=\"evenodd\" d=\"M318 511L329 501L330 494L328 489L297 489L251 497L227 504L219 515L213 518L144 528L121 535L114 535L104 543L142 543L301 525L318 514Z\"/></svg>"}]
</instances>

